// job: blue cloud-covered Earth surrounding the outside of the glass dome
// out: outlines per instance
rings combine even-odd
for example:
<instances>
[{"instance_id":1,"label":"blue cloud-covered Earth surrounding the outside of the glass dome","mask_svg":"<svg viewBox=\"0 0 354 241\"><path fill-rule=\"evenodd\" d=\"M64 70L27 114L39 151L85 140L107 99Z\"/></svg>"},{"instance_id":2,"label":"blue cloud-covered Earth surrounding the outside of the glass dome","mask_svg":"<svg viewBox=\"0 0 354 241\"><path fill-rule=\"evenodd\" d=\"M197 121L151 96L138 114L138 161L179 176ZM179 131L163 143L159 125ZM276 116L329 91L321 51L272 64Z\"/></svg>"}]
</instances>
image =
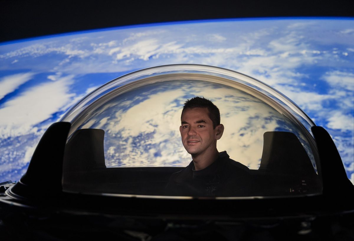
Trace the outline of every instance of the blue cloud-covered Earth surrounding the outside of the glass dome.
<instances>
[{"instance_id":1,"label":"blue cloud-covered Earth surrounding the outside of the glass dome","mask_svg":"<svg viewBox=\"0 0 354 241\"><path fill-rule=\"evenodd\" d=\"M147 67L203 64L252 76L293 100L331 134L354 183L353 26L354 19L345 18L228 19L3 42L0 182L18 181L48 126L104 83ZM143 103L130 108L143 108ZM121 135L129 138L134 131ZM126 153L107 145L112 165L122 165L114 157ZM164 148L149 148L163 165ZM188 162L182 151L185 160L173 159L176 165Z\"/></svg>"}]
</instances>

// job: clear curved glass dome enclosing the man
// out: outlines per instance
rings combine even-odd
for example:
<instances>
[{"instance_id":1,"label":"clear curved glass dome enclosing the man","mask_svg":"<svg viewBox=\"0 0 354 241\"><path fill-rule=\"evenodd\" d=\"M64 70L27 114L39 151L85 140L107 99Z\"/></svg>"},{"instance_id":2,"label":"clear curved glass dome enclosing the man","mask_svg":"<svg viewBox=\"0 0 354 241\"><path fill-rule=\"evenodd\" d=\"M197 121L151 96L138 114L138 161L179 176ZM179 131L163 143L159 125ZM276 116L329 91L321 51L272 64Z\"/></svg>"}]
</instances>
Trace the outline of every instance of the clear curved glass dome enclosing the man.
<instances>
[{"instance_id":1,"label":"clear curved glass dome enclosing the man","mask_svg":"<svg viewBox=\"0 0 354 241\"><path fill-rule=\"evenodd\" d=\"M219 173L217 184L194 187L211 185L215 192L173 192L169 185L172 174L192 161L179 126L183 104L194 96L204 96L220 110L225 130L218 151L227 151L239 168L248 167L243 181L234 178L242 176L236 168L234 174L228 172L231 179ZM72 124L63 169L67 192L225 198L322 190L309 132L312 120L281 93L238 72L203 65L140 70L96 89L61 121ZM196 181L188 182L193 186ZM235 182L240 183L237 188ZM242 185L246 191L235 191ZM234 191L226 186L235 186Z\"/></svg>"}]
</instances>

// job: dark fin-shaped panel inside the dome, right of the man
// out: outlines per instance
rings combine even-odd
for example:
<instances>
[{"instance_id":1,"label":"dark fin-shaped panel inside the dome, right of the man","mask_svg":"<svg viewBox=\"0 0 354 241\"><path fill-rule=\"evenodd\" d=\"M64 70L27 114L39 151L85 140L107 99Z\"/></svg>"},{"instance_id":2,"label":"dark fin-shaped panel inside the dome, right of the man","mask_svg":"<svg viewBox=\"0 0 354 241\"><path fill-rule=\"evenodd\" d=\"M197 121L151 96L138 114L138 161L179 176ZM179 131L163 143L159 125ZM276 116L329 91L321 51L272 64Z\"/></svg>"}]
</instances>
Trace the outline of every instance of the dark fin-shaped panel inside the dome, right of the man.
<instances>
[{"instance_id":1,"label":"dark fin-shaped panel inside the dome, right of the man","mask_svg":"<svg viewBox=\"0 0 354 241\"><path fill-rule=\"evenodd\" d=\"M320 192L319 177L295 134L267 131L263 140L261 163L258 171L253 172L261 195Z\"/></svg>"}]
</instances>

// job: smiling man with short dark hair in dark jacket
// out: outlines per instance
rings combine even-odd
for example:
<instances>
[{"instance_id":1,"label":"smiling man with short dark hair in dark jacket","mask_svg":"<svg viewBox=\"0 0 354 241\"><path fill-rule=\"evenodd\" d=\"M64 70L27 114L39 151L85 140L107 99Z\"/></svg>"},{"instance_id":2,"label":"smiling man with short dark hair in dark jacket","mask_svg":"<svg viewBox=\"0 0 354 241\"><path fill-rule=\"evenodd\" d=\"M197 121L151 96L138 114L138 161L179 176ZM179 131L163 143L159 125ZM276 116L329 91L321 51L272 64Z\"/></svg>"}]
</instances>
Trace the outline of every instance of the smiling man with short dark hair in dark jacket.
<instances>
[{"instance_id":1,"label":"smiling man with short dark hair in dark jacket","mask_svg":"<svg viewBox=\"0 0 354 241\"><path fill-rule=\"evenodd\" d=\"M179 131L192 161L172 174L166 195L247 196L252 193L253 179L248 167L216 148L224 125L220 124L219 109L210 100L194 97L185 101Z\"/></svg>"}]
</instances>

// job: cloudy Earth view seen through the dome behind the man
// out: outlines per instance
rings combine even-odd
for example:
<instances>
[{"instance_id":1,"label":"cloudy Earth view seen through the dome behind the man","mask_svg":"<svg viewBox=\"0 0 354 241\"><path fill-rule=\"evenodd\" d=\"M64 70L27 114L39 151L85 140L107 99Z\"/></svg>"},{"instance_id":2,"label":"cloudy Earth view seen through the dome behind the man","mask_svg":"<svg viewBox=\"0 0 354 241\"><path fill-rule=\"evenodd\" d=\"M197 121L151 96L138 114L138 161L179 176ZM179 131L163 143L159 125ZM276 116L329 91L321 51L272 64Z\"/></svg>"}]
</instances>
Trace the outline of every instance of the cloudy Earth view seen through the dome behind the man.
<instances>
[{"instance_id":1,"label":"cloudy Earth view seen through the dome behind the man","mask_svg":"<svg viewBox=\"0 0 354 241\"><path fill-rule=\"evenodd\" d=\"M116 96L80 118L78 129L105 130L107 167L186 166L190 155L181 143L179 125L183 103L205 96L219 107L225 131L218 147L230 157L258 169L266 131L295 133L315 165L309 143L284 115L264 101L223 84L168 81L149 84ZM85 115L86 117L86 115Z\"/></svg>"}]
</instances>

